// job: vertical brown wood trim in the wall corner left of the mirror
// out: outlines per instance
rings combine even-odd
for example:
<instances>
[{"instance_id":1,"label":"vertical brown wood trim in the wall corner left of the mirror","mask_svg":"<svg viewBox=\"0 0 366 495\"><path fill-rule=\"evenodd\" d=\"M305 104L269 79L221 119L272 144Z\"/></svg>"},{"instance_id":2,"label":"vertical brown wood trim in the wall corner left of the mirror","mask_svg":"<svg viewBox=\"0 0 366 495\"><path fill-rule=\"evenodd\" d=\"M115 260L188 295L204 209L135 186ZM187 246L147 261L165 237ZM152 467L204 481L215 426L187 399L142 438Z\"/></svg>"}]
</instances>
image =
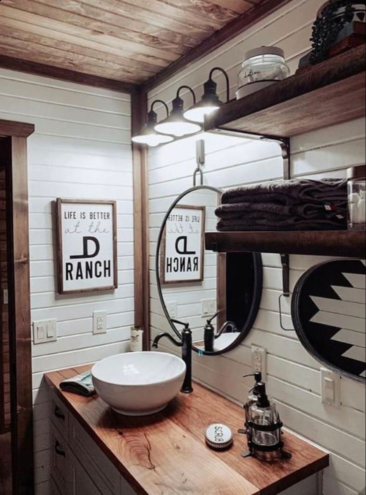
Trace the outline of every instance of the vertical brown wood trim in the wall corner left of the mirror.
<instances>
[{"instance_id":1,"label":"vertical brown wood trim in the wall corner left of the mirror","mask_svg":"<svg viewBox=\"0 0 366 495\"><path fill-rule=\"evenodd\" d=\"M132 135L147 118L147 94L135 93L131 99ZM150 250L148 165L145 147L132 143L133 160L133 240L134 240L134 324L143 328L143 349L150 349Z\"/></svg>"}]
</instances>

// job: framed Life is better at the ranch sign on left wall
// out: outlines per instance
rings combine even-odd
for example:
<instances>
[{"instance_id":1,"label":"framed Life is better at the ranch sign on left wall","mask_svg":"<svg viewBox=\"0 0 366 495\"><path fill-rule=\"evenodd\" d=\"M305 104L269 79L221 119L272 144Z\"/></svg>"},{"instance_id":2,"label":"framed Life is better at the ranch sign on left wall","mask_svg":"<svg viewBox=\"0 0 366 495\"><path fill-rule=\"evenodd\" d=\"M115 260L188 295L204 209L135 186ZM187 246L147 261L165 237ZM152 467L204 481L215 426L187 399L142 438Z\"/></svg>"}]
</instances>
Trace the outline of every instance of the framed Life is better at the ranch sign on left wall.
<instances>
[{"instance_id":1,"label":"framed Life is better at the ranch sign on left wall","mask_svg":"<svg viewBox=\"0 0 366 495\"><path fill-rule=\"evenodd\" d=\"M59 294L118 287L116 201L57 199Z\"/></svg>"}]
</instances>

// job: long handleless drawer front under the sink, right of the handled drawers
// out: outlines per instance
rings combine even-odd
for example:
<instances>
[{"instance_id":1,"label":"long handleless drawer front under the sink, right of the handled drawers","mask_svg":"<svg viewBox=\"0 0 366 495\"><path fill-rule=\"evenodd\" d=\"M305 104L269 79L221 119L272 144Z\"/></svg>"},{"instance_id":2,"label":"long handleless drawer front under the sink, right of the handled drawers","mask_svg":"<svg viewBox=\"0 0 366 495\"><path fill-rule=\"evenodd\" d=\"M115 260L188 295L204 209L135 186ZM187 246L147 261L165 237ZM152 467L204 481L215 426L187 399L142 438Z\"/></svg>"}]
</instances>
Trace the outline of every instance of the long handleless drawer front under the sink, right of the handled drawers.
<instances>
[{"instance_id":1,"label":"long handleless drawer front under the sink, right of the handled drawers","mask_svg":"<svg viewBox=\"0 0 366 495\"><path fill-rule=\"evenodd\" d=\"M101 493L120 495L120 472L72 415L69 427L70 448Z\"/></svg>"}]
</instances>

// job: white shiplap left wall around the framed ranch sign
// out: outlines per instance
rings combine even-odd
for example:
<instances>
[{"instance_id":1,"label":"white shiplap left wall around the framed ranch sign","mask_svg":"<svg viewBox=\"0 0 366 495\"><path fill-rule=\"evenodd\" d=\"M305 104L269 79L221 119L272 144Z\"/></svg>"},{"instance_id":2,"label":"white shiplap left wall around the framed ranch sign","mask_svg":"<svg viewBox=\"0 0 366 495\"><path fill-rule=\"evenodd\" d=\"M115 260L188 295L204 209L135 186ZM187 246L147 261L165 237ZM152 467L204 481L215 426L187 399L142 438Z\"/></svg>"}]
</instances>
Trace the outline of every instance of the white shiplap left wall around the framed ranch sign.
<instances>
[{"instance_id":1,"label":"white shiplap left wall around the framed ranch sign","mask_svg":"<svg viewBox=\"0 0 366 495\"><path fill-rule=\"evenodd\" d=\"M49 493L51 458L43 374L128 349L133 324L130 115L128 95L0 69L0 118L36 127L28 142L32 320L57 319L57 342L32 348L37 495ZM55 293L51 207L59 197L118 201L116 291ZM108 311L106 334L92 334L95 310Z\"/></svg>"}]
</instances>

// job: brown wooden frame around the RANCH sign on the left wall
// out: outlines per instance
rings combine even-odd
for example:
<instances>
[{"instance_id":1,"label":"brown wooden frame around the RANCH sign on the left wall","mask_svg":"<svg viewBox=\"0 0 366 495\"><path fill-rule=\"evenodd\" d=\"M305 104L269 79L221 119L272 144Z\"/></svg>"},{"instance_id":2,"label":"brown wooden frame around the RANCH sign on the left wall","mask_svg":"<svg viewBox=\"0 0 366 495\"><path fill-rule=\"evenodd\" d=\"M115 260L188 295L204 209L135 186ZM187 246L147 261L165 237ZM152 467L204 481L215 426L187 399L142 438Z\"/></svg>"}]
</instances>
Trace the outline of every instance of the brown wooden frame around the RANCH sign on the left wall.
<instances>
[{"instance_id":1,"label":"brown wooden frame around the RANCH sign on the left wall","mask_svg":"<svg viewBox=\"0 0 366 495\"><path fill-rule=\"evenodd\" d=\"M63 285L63 258L62 258L62 204L110 204L113 212L113 280L114 285L109 287L93 287L77 291L65 291ZM56 200L56 229L57 229L57 280L59 294L85 294L93 292L114 291L118 289L118 252L117 252L117 201L109 199L64 199Z\"/></svg>"}]
</instances>

